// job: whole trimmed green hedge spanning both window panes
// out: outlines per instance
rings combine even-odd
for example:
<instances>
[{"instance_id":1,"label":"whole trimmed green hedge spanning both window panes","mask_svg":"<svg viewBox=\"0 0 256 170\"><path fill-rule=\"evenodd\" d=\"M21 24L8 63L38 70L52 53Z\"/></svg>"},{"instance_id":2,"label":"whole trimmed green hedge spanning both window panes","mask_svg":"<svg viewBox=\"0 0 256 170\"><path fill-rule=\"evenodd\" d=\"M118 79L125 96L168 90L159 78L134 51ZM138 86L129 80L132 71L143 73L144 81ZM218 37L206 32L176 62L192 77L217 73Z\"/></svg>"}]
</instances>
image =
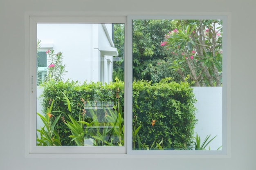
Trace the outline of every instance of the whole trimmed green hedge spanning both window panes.
<instances>
[{"instance_id":1,"label":"whole trimmed green hedge spanning both window panes","mask_svg":"<svg viewBox=\"0 0 256 170\"><path fill-rule=\"evenodd\" d=\"M54 99L52 110L62 111L65 119L68 120L67 101L63 93L70 100L72 117L78 120L78 115L83 109L81 99L101 102L103 106L117 104L117 89L119 89L119 100L124 110L124 82L116 80L110 84L100 82L85 82L81 85L78 82L47 82L44 84L43 108L51 104ZM63 92L63 93L62 93ZM184 149L191 144L193 129L196 123L194 103L196 101L193 89L189 83L172 82L171 79L163 79L161 82L151 84L147 81L133 82L133 126L138 127L141 143L150 146L155 139L159 143L163 139L164 148ZM108 107L106 106L106 107ZM54 112L57 116L59 112ZM154 127L151 121L156 120ZM90 117L87 120L90 121ZM75 145L68 137L70 130L60 120L58 128L63 146ZM149 134L150 133L150 134ZM148 135L149 134L149 135ZM138 147L138 143L135 144Z\"/></svg>"}]
</instances>

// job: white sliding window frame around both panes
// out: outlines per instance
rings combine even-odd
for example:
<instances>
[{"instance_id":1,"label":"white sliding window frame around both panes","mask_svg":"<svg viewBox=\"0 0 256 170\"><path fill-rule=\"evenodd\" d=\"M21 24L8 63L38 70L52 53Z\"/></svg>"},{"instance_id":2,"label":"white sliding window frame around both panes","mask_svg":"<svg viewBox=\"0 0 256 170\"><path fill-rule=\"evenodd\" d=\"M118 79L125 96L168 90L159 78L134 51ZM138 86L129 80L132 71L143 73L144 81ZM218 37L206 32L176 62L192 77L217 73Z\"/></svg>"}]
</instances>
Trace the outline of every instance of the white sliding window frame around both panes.
<instances>
[{"instance_id":1,"label":"white sliding window frame around both panes","mask_svg":"<svg viewBox=\"0 0 256 170\"><path fill-rule=\"evenodd\" d=\"M227 158L231 152L231 15L191 15L183 13L163 13L148 15L148 13L115 13L103 15L102 13L26 13L25 15L25 71L26 79L26 157L73 157L73 158ZM150 14L150 13L149 13ZM155 13L154 13L155 14ZM186 15L185 15L186 14ZM132 150L132 19L222 19L224 22L223 34L223 112L222 112L222 148L221 151L185 151L185 150ZM36 24L37 23L124 23L125 24L125 145L118 147L93 146L36 146ZM229 46L227 46L229 44ZM229 62L227 62L229 61Z\"/></svg>"}]
</instances>

